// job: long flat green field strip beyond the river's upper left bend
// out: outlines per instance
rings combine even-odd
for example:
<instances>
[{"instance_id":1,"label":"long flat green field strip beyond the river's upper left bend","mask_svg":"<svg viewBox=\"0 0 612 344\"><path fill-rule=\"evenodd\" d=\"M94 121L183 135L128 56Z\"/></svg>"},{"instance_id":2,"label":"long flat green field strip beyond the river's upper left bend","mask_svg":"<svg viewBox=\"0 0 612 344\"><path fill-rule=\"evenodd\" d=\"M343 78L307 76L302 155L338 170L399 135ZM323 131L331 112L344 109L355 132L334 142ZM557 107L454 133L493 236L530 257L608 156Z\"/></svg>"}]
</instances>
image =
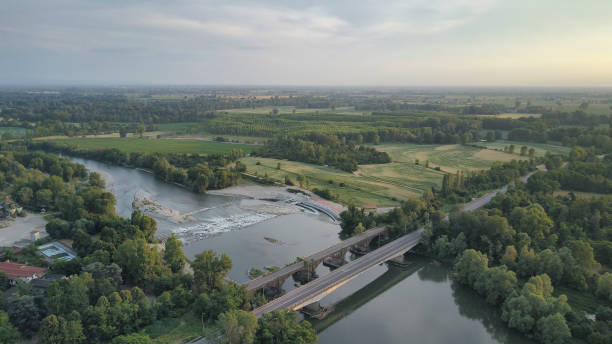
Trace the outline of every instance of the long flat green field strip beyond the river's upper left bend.
<instances>
[{"instance_id":1,"label":"long flat green field strip beyond the river's upper left bend","mask_svg":"<svg viewBox=\"0 0 612 344\"><path fill-rule=\"evenodd\" d=\"M50 140L51 141L51 140ZM126 153L226 153L232 149L252 151L255 147L241 144L218 143L203 140L140 139L140 138L68 138L52 142L77 146L83 149L116 148Z\"/></svg>"}]
</instances>

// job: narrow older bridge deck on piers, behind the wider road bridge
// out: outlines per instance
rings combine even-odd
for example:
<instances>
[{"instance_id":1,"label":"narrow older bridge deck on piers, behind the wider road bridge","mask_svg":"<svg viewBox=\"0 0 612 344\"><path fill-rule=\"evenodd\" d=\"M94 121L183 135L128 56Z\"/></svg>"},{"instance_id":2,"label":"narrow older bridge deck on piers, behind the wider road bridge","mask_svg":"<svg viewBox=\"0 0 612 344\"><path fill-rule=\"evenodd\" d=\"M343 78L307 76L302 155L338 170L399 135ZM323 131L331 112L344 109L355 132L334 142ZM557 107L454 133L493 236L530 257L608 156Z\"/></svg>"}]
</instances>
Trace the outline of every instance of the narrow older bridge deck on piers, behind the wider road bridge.
<instances>
[{"instance_id":1,"label":"narrow older bridge deck on piers, behind the wider road bridge","mask_svg":"<svg viewBox=\"0 0 612 344\"><path fill-rule=\"evenodd\" d=\"M309 262L310 261L317 261L317 262L321 261L324 258L332 256L333 254L337 252L340 252L344 249L348 249L352 246L355 246L361 241L376 237L377 235L383 233L384 231L386 231L385 227L370 229L364 232L363 234L360 234L358 236L354 236L344 241L341 241L331 247L328 247L322 251L319 251L315 254L305 257L304 259ZM246 283L247 290L254 291L254 290L261 289L267 285L272 284L277 279L282 279L284 277L290 276L294 274L295 272L300 271L303 268L304 268L303 262L297 262L297 263L287 265L281 269L276 270L273 273L270 273L269 275L265 275L265 276L262 276L262 277L259 277L257 279L247 282Z\"/></svg>"}]
</instances>

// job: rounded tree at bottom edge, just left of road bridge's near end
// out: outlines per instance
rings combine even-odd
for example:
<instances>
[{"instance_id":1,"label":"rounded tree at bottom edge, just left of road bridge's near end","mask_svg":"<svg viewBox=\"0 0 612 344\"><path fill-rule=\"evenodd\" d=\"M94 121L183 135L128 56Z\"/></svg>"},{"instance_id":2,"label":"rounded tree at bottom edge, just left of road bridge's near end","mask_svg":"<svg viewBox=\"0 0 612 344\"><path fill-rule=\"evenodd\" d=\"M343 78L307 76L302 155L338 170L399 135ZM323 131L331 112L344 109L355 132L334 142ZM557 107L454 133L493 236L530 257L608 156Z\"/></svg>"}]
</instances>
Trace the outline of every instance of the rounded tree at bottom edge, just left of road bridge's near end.
<instances>
[{"instance_id":1,"label":"rounded tree at bottom edge, just left of road bridge's near end","mask_svg":"<svg viewBox=\"0 0 612 344\"><path fill-rule=\"evenodd\" d=\"M221 336L214 342L223 344L251 344L255 340L257 317L251 312L231 310L219 315L217 327Z\"/></svg>"}]
</instances>

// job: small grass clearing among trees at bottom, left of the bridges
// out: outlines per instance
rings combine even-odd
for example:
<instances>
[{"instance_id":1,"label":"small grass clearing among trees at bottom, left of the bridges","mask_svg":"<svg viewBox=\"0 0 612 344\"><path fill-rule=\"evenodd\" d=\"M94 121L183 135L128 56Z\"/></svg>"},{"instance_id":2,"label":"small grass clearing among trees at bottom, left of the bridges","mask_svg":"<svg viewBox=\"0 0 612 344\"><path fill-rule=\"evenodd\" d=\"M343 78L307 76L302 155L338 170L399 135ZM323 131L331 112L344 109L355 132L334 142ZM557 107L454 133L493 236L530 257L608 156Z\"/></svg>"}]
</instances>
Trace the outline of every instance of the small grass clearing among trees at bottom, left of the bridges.
<instances>
[{"instance_id":1,"label":"small grass clearing among trees at bottom, left of the bridges","mask_svg":"<svg viewBox=\"0 0 612 344\"><path fill-rule=\"evenodd\" d=\"M185 343L213 332L213 326L202 328L202 321L189 312L180 318L165 318L145 327L153 343Z\"/></svg>"}]
</instances>

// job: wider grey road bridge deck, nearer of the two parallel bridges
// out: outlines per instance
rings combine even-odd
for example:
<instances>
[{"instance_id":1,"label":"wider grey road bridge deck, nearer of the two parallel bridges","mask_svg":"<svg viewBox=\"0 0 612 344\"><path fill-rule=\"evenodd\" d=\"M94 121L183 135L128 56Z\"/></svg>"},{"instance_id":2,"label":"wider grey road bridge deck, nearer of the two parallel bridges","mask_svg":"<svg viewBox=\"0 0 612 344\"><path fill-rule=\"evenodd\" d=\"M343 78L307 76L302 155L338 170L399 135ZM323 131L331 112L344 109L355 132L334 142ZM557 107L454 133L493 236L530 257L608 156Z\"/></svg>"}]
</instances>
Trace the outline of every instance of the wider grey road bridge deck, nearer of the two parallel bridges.
<instances>
[{"instance_id":1,"label":"wider grey road bridge deck, nearer of the two parallel bridges","mask_svg":"<svg viewBox=\"0 0 612 344\"><path fill-rule=\"evenodd\" d=\"M257 317L261 317L264 313L286 308L294 309L296 306L302 305L308 300L316 299L326 290L342 284L368 270L372 266L391 259L397 256L398 253L401 254L416 246L421 239L422 230L423 229L419 229L418 231L404 235L359 259L343 265L327 275L319 277L300 288L293 289L287 294L255 309L253 314Z\"/></svg>"}]
</instances>

